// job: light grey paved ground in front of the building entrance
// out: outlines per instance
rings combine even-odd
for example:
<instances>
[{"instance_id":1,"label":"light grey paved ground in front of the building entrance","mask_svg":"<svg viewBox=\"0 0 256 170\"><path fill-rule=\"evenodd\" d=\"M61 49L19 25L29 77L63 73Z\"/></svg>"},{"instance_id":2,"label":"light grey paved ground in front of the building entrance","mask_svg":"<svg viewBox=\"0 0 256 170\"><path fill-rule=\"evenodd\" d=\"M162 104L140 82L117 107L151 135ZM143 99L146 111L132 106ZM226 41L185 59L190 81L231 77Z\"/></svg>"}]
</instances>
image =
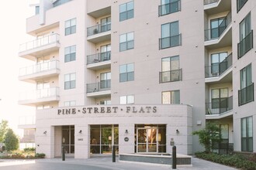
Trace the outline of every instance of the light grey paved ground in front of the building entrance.
<instances>
[{"instance_id":1,"label":"light grey paved ground in front of the building entrance","mask_svg":"<svg viewBox=\"0 0 256 170\"><path fill-rule=\"evenodd\" d=\"M61 158L53 159L38 159L38 160L1 160L0 170L171 170L171 165L154 165L135 162L119 162L116 158L116 162L112 162L111 157L97 157L89 159L74 159L66 158L66 161L62 161ZM224 165L219 165L213 162L207 162L199 158L192 158L192 166L177 166L178 170L235 170L236 168L230 168Z\"/></svg>"}]
</instances>

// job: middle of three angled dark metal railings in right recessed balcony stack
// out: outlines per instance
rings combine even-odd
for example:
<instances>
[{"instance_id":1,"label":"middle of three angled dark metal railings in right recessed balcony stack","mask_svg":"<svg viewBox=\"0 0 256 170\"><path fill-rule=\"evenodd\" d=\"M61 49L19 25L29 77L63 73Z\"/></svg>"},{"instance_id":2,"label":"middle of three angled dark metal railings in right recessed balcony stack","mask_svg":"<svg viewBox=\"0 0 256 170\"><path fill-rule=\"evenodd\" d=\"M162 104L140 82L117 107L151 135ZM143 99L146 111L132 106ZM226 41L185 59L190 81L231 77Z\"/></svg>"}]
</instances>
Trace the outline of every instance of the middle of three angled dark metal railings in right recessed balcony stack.
<instances>
[{"instance_id":1,"label":"middle of three angled dark metal railings in right recessed balcony stack","mask_svg":"<svg viewBox=\"0 0 256 170\"><path fill-rule=\"evenodd\" d=\"M232 53L221 63L213 63L212 66L206 66L206 78L220 76L232 66Z\"/></svg>"}]
</instances>

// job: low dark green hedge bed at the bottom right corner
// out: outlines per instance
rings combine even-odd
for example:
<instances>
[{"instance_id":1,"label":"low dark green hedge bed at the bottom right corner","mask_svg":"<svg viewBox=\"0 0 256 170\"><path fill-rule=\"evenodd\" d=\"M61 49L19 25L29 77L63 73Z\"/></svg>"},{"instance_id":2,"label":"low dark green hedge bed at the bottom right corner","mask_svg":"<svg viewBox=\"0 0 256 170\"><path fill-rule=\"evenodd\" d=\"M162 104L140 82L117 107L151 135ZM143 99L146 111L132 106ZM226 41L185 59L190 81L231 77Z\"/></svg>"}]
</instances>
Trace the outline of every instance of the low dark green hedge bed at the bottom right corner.
<instances>
[{"instance_id":1,"label":"low dark green hedge bed at the bottom right corner","mask_svg":"<svg viewBox=\"0 0 256 170\"><path fill-rule=\"evenodd\" d=\"M243 170L256 170L256 162L249 161L243 155L218 155L216 153L198 152L195 153L195 156L210 162L233 166Z\"/></svg>"}]
</instances>

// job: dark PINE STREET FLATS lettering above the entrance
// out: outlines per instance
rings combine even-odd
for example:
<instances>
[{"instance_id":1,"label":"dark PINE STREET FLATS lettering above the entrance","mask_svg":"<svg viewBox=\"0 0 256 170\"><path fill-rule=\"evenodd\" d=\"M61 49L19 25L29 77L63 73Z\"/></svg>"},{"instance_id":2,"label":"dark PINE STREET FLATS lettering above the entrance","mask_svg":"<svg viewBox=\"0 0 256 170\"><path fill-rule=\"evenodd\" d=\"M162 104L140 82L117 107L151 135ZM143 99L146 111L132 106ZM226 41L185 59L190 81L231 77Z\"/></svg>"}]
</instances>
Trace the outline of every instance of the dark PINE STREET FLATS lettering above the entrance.
<instances>
[{"instance_id":1,"label":"dark PINE STREET FLATS lettering above the entrance","mask_svg":"<svg viewBox=\"0 0 256 170\"><path fill-rule=\"evenodd\" d=\"M140 113L157 113L157 107L81 107L81 108L64 108L58 109L57 114L140 114Z\"/></svg>"}]
</instances>

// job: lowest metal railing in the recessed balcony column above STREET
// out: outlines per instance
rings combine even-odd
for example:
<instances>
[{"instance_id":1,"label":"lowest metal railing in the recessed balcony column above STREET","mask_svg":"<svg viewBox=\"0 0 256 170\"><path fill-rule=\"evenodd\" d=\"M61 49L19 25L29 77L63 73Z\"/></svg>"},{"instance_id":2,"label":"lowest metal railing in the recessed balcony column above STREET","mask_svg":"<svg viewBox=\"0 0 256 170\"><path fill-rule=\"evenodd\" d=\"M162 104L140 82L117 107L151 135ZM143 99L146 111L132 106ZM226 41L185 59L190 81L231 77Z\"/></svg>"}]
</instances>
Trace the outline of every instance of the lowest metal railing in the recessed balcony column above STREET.
<instances>
[{"instance_id":1,"label":"lowest metal railing in the recessed balcony column above STREET","mask_svg":"<svg viewBox=\"0 0 256 170\"><path fill-rule=\"evenodd\" d=\"M99 83L88 83L86 84L86 92L94 93L99 91L110 90L111 80L101 80Z\"/></svg>"}]
</instances>

